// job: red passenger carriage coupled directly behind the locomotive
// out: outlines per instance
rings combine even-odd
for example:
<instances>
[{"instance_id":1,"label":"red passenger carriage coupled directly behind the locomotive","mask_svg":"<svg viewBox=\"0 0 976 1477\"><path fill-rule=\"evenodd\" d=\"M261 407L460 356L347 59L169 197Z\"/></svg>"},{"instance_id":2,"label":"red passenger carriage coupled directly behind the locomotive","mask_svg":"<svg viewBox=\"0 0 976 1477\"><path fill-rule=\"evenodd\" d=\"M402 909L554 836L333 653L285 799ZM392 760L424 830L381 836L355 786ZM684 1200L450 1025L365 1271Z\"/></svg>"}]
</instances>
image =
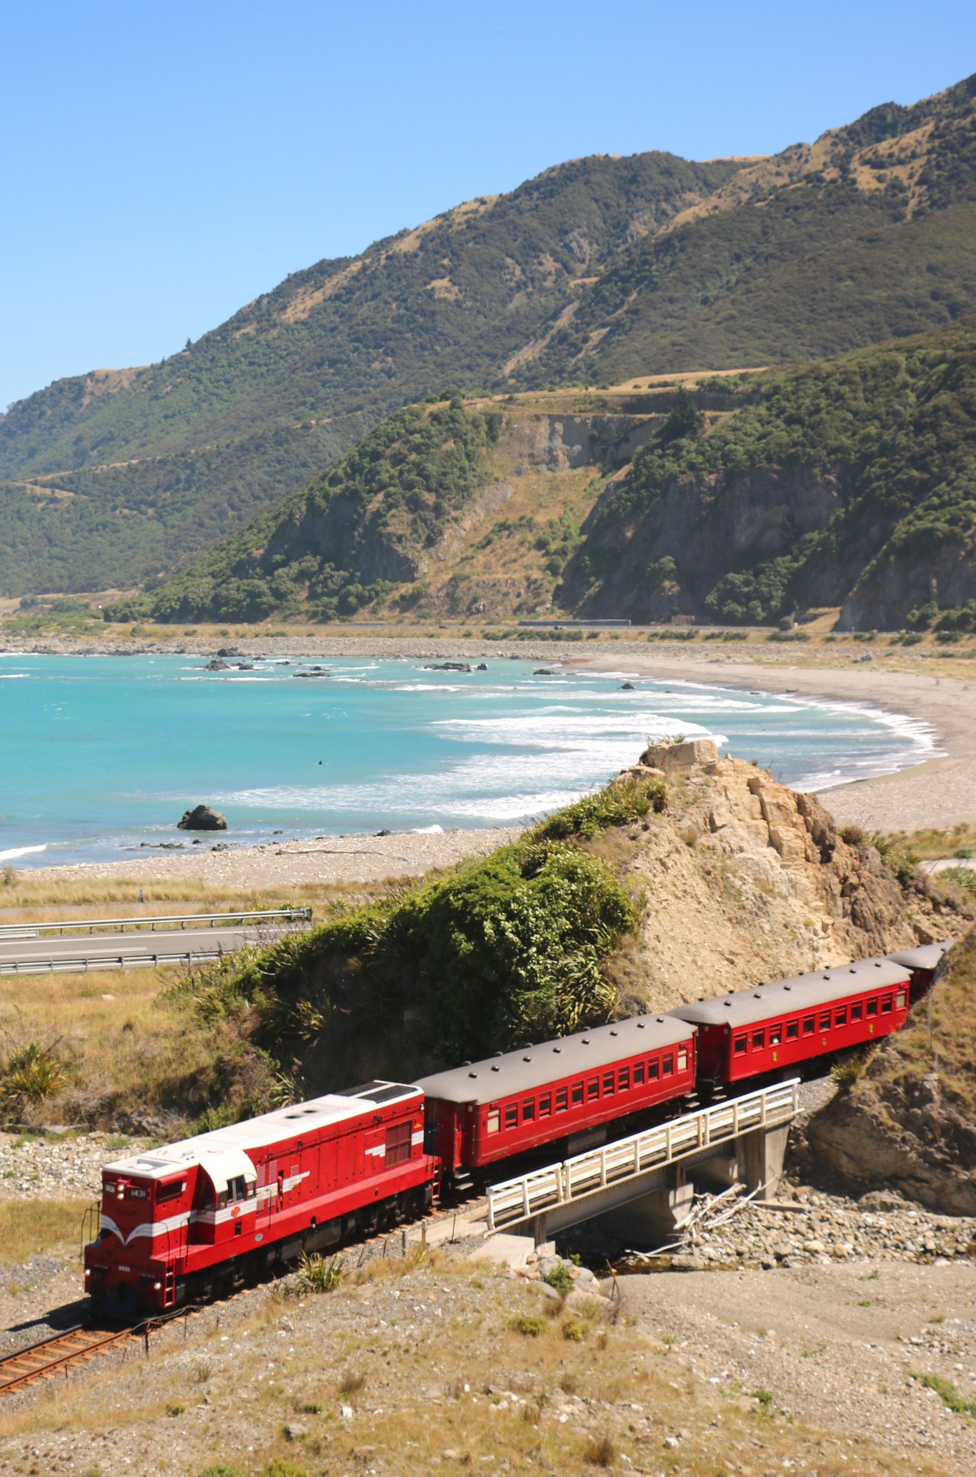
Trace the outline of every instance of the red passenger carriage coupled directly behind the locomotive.
<instances>
[{"instance_id":1,"label":"red passenger carriage coupled directly behind the locomotive","mask_svg":"<svg viewBox=\"0 0 976 1477\"><path fill-rule=\"evenodd\" d=\"M684 1097L694 1084L694 1027L667 1016L633 1016L418 1083L427 1149L444 1180L461 1183L546 1145L579 1154L604 1142L607 1124Z\"/></svg>"}]
</instances>

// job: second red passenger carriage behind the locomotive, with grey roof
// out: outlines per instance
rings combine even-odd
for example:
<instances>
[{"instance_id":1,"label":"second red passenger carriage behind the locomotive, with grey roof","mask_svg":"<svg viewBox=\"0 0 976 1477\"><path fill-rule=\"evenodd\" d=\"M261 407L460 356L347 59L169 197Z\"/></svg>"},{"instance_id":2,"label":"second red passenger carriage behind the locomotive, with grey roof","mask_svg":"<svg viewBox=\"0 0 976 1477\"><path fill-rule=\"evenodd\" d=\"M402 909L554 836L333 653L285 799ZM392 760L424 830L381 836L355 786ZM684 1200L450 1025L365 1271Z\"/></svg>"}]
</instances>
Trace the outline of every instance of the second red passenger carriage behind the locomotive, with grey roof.
<instances>
[{"instance_id":1,"label":"second red passenger carriage behind the locomotive, with grey roof","mask_svg":"<svg viewBox=\"0 0 976 1477\"><path fill-rule=\"evenodd\" d=\"M905 966L868 959L676 1006L670 1015L698 1028L698 1084L715 1093L899 1031L910 990Z\"/></svg>"}]
</instances>

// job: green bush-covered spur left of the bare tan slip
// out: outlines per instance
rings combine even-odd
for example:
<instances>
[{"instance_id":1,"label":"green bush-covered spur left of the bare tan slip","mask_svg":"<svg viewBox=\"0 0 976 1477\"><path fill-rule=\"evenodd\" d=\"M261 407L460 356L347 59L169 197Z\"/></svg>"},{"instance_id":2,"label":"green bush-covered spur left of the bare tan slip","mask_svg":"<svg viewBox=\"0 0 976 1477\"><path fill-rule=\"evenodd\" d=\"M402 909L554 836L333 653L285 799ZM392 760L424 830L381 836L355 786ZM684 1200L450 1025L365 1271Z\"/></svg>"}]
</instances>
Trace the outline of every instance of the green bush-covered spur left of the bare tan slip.
<instances>
[{"instance_id":1,"label":"green bush-covered spur left of the bare tan slip","mask_svg":"<svg viewBox=\"0 0 976 1477\"><path fill-rule=\"evenodd\" d=\"M304 610L351 616L394 583L480 484L499 412L461 400L388 417L303 493L233 535L114 620L260 620Z\"/></svg>"}]
</instances>

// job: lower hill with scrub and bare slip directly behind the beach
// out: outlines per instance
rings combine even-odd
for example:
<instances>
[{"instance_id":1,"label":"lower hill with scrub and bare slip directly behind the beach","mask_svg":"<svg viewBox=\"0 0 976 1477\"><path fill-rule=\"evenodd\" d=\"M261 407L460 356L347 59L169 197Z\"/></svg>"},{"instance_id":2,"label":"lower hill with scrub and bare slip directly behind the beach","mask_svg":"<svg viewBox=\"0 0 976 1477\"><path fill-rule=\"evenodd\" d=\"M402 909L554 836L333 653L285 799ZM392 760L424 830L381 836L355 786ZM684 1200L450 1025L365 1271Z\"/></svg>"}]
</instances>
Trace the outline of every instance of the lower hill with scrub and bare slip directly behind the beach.
<instances>
[{"instance_id":1,"label":"lower hill with scrub and bare slip directly behind the beach","mask_svg":"<svg viewBox=\"0 0 976 1477\"><path fill-rule=\"evenodd\" d=\"M976 318L690 384L397 411L111 616L976 629Z\"/></svg>"}]
</instances>

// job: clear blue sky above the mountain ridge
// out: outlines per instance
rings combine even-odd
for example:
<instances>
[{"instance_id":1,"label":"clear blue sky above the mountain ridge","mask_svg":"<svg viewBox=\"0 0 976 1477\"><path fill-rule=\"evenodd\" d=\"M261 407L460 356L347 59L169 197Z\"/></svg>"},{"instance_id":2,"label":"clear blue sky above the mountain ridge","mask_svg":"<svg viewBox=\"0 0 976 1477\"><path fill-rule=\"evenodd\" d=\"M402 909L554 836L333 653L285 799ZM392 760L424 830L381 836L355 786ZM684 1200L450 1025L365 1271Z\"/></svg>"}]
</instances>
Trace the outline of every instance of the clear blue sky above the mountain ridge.
<instances>
[{"instance_id":1,"label":"clear blue sky above the mountain ridge","mask_svg":"<svg viewBox=\"0 0 976 1477\"><path fill-rule=\"evenodd\" d=\"M973 0L6 0L0 408L582 154L771 154L976 71Z\"/></svg>"}]
</instances>

